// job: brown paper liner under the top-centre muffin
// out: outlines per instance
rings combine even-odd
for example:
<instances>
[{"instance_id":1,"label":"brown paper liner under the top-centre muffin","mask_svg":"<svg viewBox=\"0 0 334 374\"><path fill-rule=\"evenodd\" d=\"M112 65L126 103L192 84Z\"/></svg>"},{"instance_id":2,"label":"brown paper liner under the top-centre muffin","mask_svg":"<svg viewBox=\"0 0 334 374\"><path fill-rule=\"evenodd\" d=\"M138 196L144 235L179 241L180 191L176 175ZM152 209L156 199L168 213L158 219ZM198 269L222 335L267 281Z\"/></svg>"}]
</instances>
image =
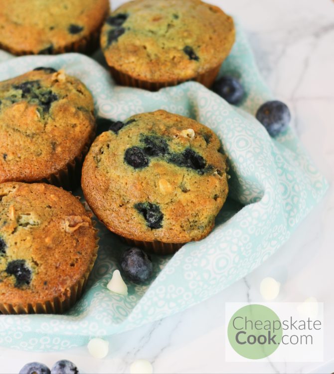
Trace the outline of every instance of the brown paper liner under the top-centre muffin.
<instances>
[{"instance_id":1,"label":"brown paper liner under the top-centre muffin","mask_svg":"<svg viewBox=\"0 0 334 374\"><path fill-rule=\"evenodd\" d=\"M218 66L214 67L211 70L208 70L207 72L203 74L197 75L191 80L199 82L203 86L210 88L219 73L220 66L221 64L219 64ZM187 80L173 80L173 81L168 81L168 82L149 82L145 80L136 79L129 74L123 73L115 69L114 67L110 67L110 70L111 70L112 76L114 77L115 81L118 84L122 86L143 88L149 91L158 91L161 88L176 86L180 83L187 81Z\"/></svg>"}]
</instances>

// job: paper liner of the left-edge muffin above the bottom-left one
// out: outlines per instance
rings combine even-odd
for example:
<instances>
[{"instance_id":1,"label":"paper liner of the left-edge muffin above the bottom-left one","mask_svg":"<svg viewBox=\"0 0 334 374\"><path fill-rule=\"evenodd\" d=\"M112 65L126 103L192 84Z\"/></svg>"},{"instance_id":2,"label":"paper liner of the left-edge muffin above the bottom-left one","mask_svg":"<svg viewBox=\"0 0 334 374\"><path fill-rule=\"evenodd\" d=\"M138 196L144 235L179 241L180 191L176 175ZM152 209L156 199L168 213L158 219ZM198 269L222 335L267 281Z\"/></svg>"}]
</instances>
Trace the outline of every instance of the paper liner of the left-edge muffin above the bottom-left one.
<instances>
[{"instance_id":1,"label":"paper liner of the left-edge muffin above the bottom-left one","mask_svg":"<svg viewBox=\"0 0 334 374\"><path fill-rule=\"evenodd\" d=\"M33 181L33 183L47 183L56 187L62 187L68 191L72 191L73 189L78 187L81 180L82 164L94 138L95 129L91 134L88 142L84 145L79 156L75 157L74 160L66 164L63 169L57 171L56 173L50 174L46 178L42 178L39 181Z\"/></svg>"}]
</instances>

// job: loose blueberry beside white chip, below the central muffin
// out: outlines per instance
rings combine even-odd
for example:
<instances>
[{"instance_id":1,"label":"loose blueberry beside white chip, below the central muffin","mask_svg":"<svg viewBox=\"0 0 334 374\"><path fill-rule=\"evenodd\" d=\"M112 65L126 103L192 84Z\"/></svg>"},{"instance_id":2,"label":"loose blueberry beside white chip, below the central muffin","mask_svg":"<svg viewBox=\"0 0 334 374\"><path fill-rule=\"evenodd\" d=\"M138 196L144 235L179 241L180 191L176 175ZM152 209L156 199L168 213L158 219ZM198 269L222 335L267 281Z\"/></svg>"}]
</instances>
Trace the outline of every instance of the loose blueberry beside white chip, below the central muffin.
<instances>
[{"instance_id":1,"label":"loose blueberry beside white chip, below the central muffin","mask_svg":"<svg viewBox=\"0 0 334 374\"><path fill-rule=\"evenodd\" d=\"M128 279L145 282L152 276L151 258L139 248L126 250L121 258L121 267Z\"/></svg>"}]
</instances>

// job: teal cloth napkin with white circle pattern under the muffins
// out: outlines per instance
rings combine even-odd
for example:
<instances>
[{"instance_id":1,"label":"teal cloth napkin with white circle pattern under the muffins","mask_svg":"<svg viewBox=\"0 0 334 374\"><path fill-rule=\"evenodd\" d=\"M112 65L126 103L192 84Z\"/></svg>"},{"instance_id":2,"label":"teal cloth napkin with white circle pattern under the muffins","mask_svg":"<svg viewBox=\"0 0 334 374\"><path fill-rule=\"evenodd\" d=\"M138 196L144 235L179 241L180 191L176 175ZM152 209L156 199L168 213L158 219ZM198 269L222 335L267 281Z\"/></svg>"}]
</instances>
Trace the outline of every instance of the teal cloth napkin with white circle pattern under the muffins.
<instances>
[{"instance_id":1,"label":"teal cloth napkin with white circle pattern under the muffins","mask_svg":"<svg viewBox=\"0 0 334 374\"><path fill-rule=\"evenodd\" d=\"M219 136L231 166L229 197L212 233L184 245L173 256L153 256L151 282L127 282L128 296L106 288L126 246L98 224L99 255L82 299L65 315L0 316L2 346L67 349L189 308L262 264L289 239L327 190L326 180L292 129L272 139L255 120L257 108L273 96L239 26L232 53L220 72L239 77L244 85L247 97L238 108L196 82L154 93L118 87L99 63L77 53L13 58L0 52L0 61L0 81L37 66L63 68L90 89L99 117L125 120L136 113L165 109L194 118ZM98 123L101 130L103 121Z\"/></svg>"}]
</instances>

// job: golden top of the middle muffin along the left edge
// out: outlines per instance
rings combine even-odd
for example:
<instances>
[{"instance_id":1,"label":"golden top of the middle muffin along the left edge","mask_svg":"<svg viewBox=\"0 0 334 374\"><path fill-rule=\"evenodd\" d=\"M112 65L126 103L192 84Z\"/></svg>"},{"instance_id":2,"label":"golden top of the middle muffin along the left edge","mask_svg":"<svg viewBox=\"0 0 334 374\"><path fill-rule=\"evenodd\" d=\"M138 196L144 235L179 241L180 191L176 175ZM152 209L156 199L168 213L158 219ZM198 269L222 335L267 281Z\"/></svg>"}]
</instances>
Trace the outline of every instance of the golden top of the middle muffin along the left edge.
<instances>
[{"instance_id":1,"label":"golden top of the middle muffin along the left edge","mask_svg":"<svg viewBox=\"0 0 334 374\"><path fill-rule=\"evenodd\" d=\"M66 168L95 132L93 98L78 79L36 68L0 82L0 183Z\"/></svg>"}]
</instances>

